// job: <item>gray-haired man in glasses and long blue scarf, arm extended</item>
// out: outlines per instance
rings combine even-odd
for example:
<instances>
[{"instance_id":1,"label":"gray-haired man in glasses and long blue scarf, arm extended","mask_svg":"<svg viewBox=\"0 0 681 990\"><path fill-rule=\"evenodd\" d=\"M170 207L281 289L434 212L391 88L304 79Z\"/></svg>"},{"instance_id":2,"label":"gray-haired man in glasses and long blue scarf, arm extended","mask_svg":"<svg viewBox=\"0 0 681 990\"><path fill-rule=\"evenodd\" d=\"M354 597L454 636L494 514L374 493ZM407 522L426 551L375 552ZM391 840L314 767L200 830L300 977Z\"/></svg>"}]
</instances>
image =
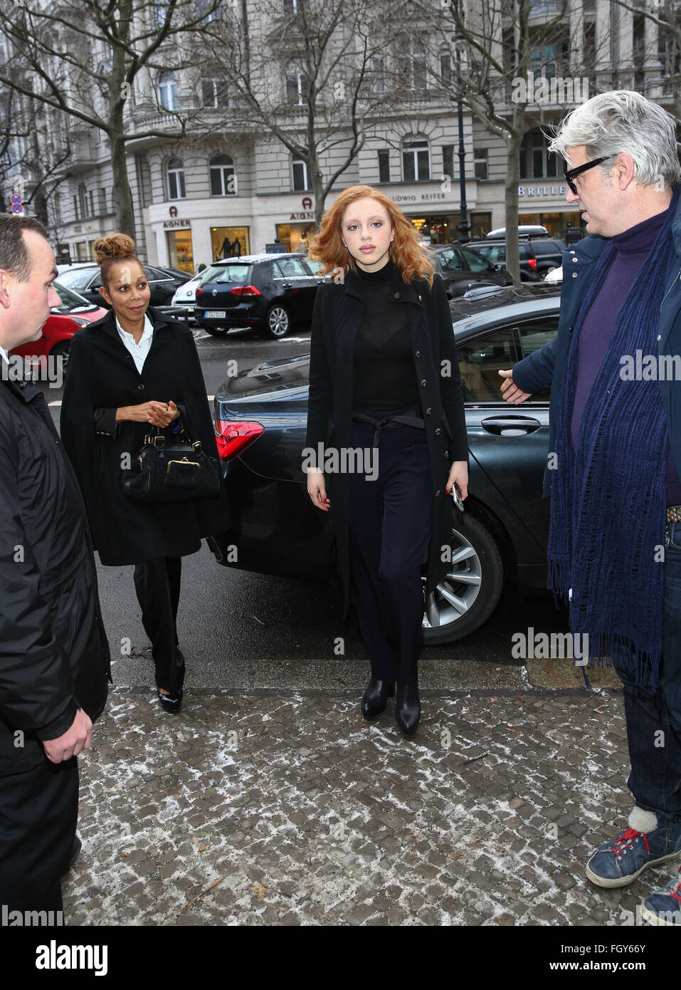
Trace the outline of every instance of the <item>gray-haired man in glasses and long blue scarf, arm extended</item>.
<instances>
[{"instance_id":1,"label":"gray-haired man in glasses and long blue scarf, arm extended","mask_svg":"<svg viewBox=\"0 0 681 990\"><path fill-rule=\"evenodd\" d=\"M635 805L586 870L621 887L681 856L681 168L672 118L628 90L578 106L551 149L589 237L563 253L556 338L501 388L550 385L549 587L624 684ZM681 876L642 914L681 924Z\"/></svg>"}]
</instances>

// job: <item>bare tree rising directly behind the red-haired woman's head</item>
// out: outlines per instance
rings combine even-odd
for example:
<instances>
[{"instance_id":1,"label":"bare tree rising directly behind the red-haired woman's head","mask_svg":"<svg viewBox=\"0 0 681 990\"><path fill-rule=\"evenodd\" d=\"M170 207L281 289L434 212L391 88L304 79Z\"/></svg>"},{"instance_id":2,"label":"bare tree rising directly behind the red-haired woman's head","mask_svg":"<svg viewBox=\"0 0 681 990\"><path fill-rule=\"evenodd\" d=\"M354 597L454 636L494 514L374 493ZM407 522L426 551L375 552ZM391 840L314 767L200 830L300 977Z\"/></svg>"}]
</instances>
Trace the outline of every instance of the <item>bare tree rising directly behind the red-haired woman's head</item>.
<instances>
[{"instance_id":1,"label":"bare tree rising directly behind the red-haired woman's head","mask_svg":"<svg viewBox=\"0 0 681 990\"><path fill-rule=\"evenodd\" d=\"M330 190L394 106L384 80L389 7L241 0L204 35L230 92L226 127L270 135L305 163L318 224Z\"/></svg>"}]
</instances>

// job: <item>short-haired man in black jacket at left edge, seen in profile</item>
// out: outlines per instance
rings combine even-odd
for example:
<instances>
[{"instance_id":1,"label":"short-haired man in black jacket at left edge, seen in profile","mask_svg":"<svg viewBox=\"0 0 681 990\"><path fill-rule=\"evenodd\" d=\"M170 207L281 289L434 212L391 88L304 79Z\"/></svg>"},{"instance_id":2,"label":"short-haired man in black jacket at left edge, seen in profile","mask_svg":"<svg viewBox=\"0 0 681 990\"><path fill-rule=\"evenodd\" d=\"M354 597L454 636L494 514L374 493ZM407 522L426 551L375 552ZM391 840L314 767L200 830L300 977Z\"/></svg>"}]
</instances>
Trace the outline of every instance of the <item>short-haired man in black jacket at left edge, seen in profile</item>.
<instances>
[{"instance_id":1,"label":"short-haired man in black jacket at left edge, seen in profile","mask_svg":"<svg viewBox=\"0 0 681 990\"><path fill-rule=\"evenodd\" d=\"M43 393L7 352L58 305L35 220L0 214L0 906L58 911L77 754L106 703L109 646L77 482Z\"/></svg>"}]
</instances>

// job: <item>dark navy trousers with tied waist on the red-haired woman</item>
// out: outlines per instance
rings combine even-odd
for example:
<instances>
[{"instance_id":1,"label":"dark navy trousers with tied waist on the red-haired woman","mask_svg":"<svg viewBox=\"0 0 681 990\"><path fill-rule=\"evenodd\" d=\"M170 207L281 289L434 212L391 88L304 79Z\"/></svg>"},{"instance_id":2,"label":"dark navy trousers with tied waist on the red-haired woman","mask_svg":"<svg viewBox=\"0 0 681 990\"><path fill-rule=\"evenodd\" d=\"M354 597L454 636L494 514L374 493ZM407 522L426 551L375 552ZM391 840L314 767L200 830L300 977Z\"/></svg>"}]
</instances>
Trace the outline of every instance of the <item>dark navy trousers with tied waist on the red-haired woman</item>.
<instances>
[{"instance_id":1,"label":"dark navy trousers with tied waist on the red-haired woman","mask_svg":"<svg viewBox=\"0 0 681 990\"><path fill-rule=\"evenodd\" d=\"M372 439L371 425L352 424L353 447L370 449ZM364 471L349 475L350 594L371 675L416 684L423 644L422 570L433 525L426 431L384 430L374 455L375 480L369 480L366 458Z\"/></svg>"}]
</instances>

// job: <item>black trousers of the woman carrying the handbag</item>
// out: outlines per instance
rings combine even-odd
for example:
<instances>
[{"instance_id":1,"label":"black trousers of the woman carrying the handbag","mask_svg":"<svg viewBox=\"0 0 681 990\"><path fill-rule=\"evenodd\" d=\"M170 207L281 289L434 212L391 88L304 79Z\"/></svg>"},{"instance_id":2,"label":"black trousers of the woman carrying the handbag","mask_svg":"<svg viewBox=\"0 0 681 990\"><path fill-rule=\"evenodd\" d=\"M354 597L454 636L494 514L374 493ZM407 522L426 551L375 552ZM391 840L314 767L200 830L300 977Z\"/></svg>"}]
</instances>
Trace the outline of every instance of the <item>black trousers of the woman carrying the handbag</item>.
<instances>
[{"instance_id":1,"label":"black trousers of the woman carrying the handbag","mask_svg":"<svg viewBox=\"0 0 681 990\"><path fill-rule=\"evenodd\" d=\"M184 657L178 649L177 605L182 557L154 557L135 564L135 590L142 624L151 641L156 687L177 694L184 683Z\"/></svg>"}]
</instances>

